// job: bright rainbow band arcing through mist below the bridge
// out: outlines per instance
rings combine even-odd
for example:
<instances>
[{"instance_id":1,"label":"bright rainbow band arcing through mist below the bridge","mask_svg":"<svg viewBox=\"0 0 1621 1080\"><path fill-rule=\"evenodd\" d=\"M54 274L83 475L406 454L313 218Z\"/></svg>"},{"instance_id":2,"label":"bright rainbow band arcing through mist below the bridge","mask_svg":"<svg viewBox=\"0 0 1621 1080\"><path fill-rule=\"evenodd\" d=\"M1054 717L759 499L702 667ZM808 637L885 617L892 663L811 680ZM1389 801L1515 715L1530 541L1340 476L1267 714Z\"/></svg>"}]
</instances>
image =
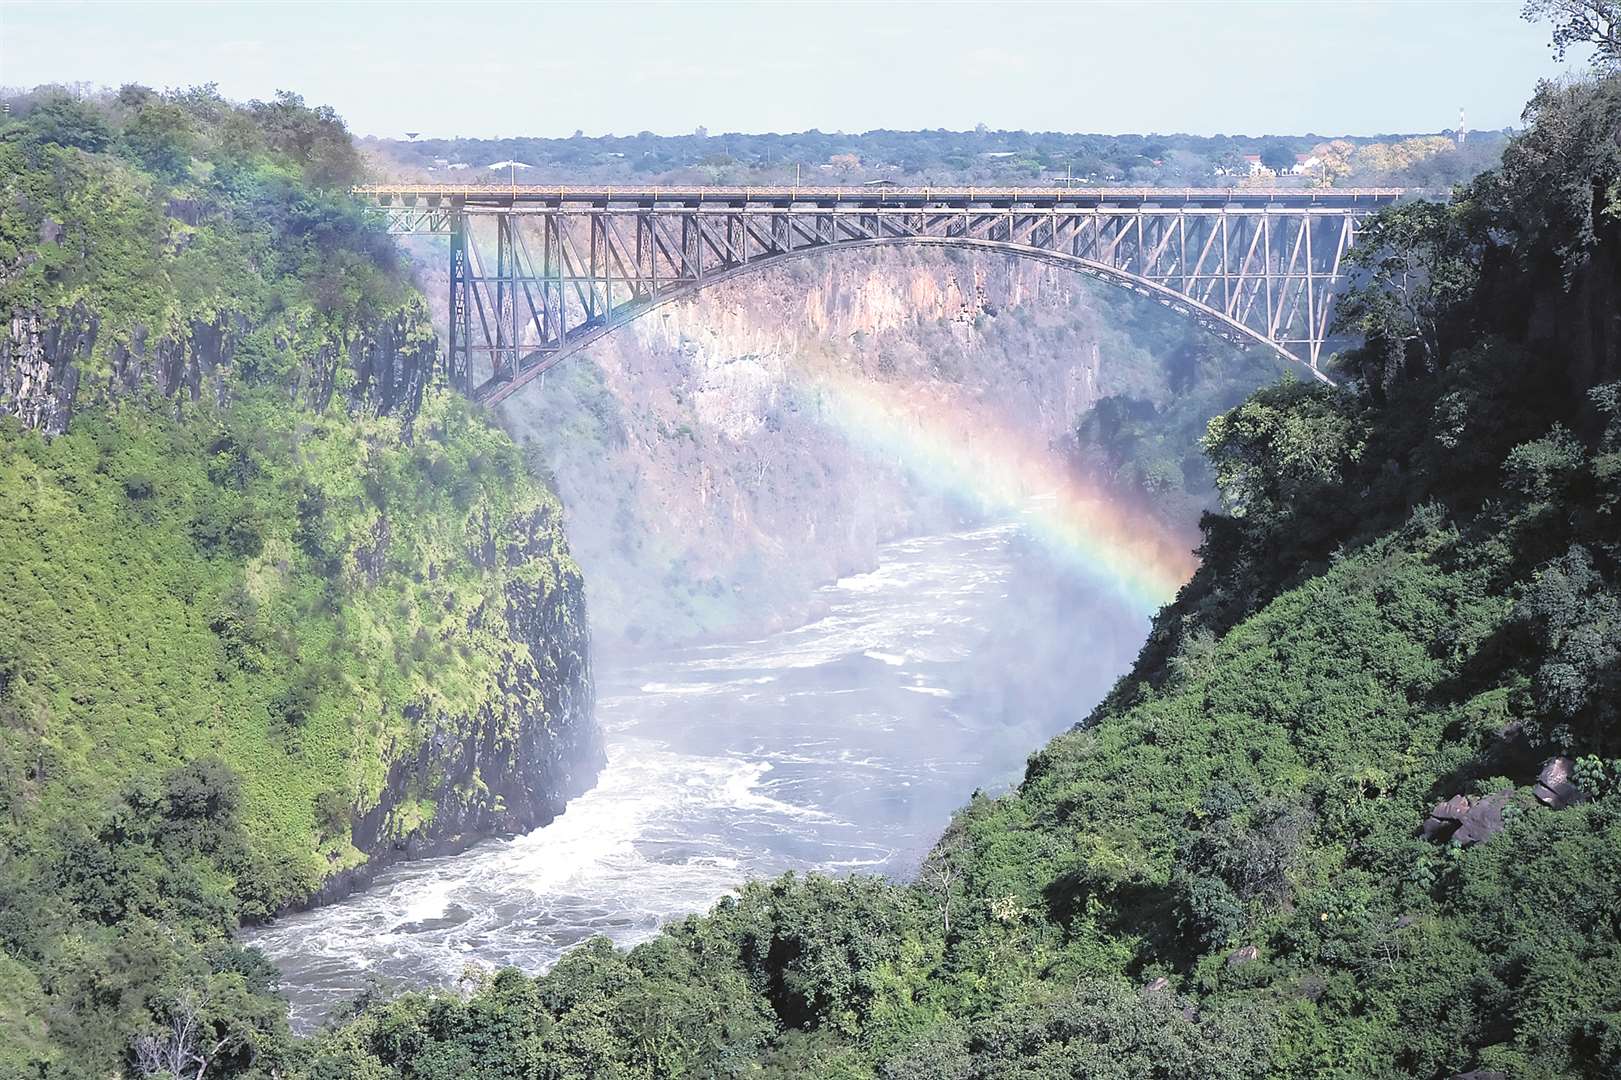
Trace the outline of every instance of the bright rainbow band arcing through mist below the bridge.
<instances>
[{"instance_id":1,"label":"bright rainbow band arcing through mist below the bridge","mask_svg":"<svg viewBox=\"0 0 1621 1080\"><path fill-rule=\"evenodd\" d=\"M828 371L807 373L799 389L856 448L986 512L1018 516L1063 564L1140 611L1159 610L1193 576L1198 561L1185 537L1070 475L1046 444L987 425L940 391L914 386L901 397L883 383Z\"/></svg>"}]
</instances>

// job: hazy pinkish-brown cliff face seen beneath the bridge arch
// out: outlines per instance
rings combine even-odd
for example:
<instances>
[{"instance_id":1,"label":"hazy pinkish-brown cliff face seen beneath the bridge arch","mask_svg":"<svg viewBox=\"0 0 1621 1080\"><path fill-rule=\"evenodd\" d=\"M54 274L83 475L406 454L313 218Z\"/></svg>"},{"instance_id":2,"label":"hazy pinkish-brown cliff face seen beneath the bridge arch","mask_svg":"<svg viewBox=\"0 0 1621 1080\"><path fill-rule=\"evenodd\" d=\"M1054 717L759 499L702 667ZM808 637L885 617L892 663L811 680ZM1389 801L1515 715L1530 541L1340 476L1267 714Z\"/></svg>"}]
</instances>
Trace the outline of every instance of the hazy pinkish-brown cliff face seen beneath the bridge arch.
<instances>
[{"instance_id":1,"label":"hazy pinkish-brown cliff face seen beneath the bridge arch","mask_svg":"<svg viewBox=\"0 0 1621 1080\"><path fill-rule=\"evenodd\" d=\"M417 256L443 302L441 253ZM1076 420L1106 396L1167 404L1272 376L1078 274L877 248L660 308L514 394L501 422L569 506L598 639L637 649L793 624L880 542L971 516L973 491L919 472L914 443L1016 439L1062 475ZM828 379L880 401L882 422L841 414ZM853 423L885 428L885 446Z\"/></svg>"}]
</instances>

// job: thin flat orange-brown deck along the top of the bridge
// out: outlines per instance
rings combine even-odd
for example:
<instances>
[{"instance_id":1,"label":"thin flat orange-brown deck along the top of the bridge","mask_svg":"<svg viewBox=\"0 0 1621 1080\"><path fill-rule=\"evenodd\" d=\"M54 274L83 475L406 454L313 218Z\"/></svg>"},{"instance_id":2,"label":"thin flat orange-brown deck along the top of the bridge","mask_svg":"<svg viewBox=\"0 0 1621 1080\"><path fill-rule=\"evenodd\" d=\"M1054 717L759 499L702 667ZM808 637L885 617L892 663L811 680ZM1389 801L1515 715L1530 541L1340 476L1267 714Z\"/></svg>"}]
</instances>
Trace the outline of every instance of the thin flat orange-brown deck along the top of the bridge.
<instances>
[{"instance_id":1,"label":"thin flat orange-brown deck along the top of the bridge","mask_svg":"<svg viewBox=\"0 0 1621 1080\"><path fill-rule=\"evenodd\" d=\"M874 186L559 186L559 185L452 185L452 183L371 183L355 195L381 204L452 206L669 206L715 203L739 206L1277 206L1277 208L1371 208L1391 203L1405 188L906 188Z\"/></svg>"}]
</instances>

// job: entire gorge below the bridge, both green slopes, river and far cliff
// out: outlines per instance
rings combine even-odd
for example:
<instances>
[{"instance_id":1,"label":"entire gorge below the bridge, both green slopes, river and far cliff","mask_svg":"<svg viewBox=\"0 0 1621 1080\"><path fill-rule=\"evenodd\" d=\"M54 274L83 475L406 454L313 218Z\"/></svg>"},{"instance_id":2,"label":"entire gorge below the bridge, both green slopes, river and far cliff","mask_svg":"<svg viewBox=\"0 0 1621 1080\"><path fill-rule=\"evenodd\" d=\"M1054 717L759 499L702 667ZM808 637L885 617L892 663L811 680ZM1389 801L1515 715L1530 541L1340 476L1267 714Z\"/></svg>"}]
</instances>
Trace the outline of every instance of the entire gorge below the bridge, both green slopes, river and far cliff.
<instances>
[{"instance_id":1,"label":"entire gorge below the bridge, both green slopes, river and far cliff","mask_svg":"<svg viewBox=\"0 0 1621 1080\"><path fill-rule=\"evenodd\" d=\"M1598 63L1332 384L872 248L496 410L331 109L8 92L0 1078L1615 1075Z\"/></svg>"}]
</instances>

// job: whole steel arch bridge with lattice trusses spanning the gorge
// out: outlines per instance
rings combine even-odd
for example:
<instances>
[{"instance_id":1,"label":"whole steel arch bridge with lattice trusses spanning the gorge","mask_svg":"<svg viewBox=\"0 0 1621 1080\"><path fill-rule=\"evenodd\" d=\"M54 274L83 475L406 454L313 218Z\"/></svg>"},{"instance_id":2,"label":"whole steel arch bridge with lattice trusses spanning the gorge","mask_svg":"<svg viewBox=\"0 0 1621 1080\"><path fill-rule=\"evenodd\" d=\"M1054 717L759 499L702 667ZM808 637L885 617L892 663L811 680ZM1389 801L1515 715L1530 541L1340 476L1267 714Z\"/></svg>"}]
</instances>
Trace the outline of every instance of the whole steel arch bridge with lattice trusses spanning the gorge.
<instances>
[{"instance_id":1,"label":"whole steel arch bridge with lattice trusses spanning the gorge","mask_svg":"<svg viewBox=\"0 0 1621 1080\"><path fill-rule=\"evenodd\" d=\"M603 334L759 266L879 243L984 248L1130 289L1318 370L1344 258L1396 188L355 188L451 237L451 383L494 404Z\"/></svg>"}]
</instances>

